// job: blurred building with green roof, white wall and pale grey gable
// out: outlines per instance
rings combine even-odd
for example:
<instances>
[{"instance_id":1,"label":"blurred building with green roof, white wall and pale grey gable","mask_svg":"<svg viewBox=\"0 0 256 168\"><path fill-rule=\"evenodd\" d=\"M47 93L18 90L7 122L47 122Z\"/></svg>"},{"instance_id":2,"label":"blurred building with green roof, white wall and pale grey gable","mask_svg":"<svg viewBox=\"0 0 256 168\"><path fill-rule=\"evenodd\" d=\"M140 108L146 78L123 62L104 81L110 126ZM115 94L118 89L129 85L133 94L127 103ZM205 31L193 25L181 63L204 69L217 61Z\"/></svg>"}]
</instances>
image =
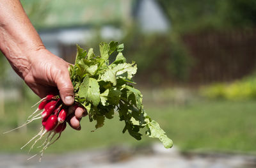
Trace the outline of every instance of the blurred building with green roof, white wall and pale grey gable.
<instances>
[{"instance_id":1,"label":"blurred building with green roof, white wall and pale grey gable","mask_svg":"<svg viewBox=\"0 0 256 168\"><path fill-rule=\"evenodd\" d=\"M142 33L170 29L170 20L156 0L52 0L44 13L44 19L31 21L45 47L67 61L72 61L68 55L76 43L120 40L134 23Z\"/></svg>"}]
</instances>

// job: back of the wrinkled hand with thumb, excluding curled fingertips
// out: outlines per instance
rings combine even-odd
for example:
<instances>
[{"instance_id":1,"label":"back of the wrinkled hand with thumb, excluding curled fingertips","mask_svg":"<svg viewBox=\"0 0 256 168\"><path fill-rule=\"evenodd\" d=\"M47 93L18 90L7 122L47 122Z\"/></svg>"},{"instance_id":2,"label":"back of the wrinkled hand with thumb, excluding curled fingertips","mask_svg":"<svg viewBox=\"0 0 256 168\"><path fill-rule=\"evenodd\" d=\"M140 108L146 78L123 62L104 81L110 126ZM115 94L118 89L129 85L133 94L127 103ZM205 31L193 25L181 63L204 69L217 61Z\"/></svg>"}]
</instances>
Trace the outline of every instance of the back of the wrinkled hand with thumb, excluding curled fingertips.
<instances>
[{"instance_id":1,"label":"back of the wrinkled hand with thumb, excluding curled fingertips","mask_svg":"<svg viewBox=\"0 0 256 168\"><path fill-rule=\"evenodd\" d=\"M58 94L60 91L61 100L65 101L65 97L69 96L70 99L65 103L72 105L74 92L68 74L68 63L46 49L38 50L35 54L36 57L29 61L31 67L24 76L26 84L40 98L44 98L49 93Z\"/></svg>"}]
</instances>

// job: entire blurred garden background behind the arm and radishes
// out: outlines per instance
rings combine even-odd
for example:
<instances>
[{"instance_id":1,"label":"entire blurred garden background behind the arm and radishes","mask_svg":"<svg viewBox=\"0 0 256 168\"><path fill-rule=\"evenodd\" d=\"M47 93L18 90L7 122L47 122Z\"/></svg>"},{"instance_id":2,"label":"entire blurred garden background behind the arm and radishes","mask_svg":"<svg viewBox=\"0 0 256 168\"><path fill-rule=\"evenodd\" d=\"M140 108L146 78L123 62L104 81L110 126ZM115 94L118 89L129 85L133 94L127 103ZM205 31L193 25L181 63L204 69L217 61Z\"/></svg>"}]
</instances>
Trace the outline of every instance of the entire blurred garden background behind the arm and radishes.
<instances>
[{"instance_id":1,"label":"entire blurred garden background behind the arm and radishes","mask_svg":"<svg viewBox=\"0 0 256 168\"><path fill-rule=\"evenodd\" d=\"M76 44L97 52L101 41L124 43L124 56L138 64L145 110L174 146L122 134L118 118L92 133L84 118L82 130L67 128L41 164L28 162L29 148L20 147L38 121L0 135L0 167L256 167L255 0L21 2L45 47L70 63ZM4 132L21 125L39 98L4 56L0 63Z\"/></svg>"}]
</instances>

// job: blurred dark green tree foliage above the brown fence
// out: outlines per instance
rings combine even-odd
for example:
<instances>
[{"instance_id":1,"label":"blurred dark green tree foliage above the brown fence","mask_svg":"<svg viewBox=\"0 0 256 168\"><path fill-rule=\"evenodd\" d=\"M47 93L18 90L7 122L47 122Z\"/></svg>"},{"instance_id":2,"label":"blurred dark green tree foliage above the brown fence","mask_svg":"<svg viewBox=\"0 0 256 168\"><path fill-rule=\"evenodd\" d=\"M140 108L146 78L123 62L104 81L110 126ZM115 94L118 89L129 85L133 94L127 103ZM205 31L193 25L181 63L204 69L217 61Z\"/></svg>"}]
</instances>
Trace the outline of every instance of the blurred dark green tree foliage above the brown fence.
<instances>
[{"instance_id":1,"label":"blurred dark green tree foliage above the brown fence","mask_svg":"<svg viewBox=\"0 0 256 168\"><path fill-rule=\"evenodd\" d=\"M256 26L254 0L158 0L180 32Z\"/></svg>"}]
</instances>

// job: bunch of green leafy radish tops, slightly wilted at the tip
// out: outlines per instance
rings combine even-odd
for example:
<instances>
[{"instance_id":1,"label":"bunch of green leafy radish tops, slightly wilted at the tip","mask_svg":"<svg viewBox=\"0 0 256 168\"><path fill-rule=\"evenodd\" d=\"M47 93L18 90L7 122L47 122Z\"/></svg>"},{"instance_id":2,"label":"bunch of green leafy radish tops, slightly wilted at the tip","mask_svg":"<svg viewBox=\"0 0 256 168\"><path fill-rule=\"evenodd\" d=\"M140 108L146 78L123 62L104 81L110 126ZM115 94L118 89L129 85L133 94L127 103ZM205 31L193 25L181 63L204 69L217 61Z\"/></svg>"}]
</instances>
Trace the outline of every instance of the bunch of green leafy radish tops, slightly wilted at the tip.
<instances>
[{"instance_id":1,"label":"bunch of green leafy radish tops, slightly wilted at the tip","mask_svg":"<svg viewBox=\"0 0 256 168\"><path fill-rule=\"evenodd\" d=\"M140 129L146 127L146 135L160 139L165 148L171 148L172 140L147 116L142 95L132 86L137 66L126 62L122 54L124 44L102 42L99 48L100 56L95 56L93 49L87 52L77 45L76 62L69 69L76 102L88 111L90 121L97 121L96 128L104 125L105 118L113 118L116 109L120 121L125 122L123 133L127 130L140 140ZM113 53L116 59L109 63Z\"/></svg>"}]
</instances>

